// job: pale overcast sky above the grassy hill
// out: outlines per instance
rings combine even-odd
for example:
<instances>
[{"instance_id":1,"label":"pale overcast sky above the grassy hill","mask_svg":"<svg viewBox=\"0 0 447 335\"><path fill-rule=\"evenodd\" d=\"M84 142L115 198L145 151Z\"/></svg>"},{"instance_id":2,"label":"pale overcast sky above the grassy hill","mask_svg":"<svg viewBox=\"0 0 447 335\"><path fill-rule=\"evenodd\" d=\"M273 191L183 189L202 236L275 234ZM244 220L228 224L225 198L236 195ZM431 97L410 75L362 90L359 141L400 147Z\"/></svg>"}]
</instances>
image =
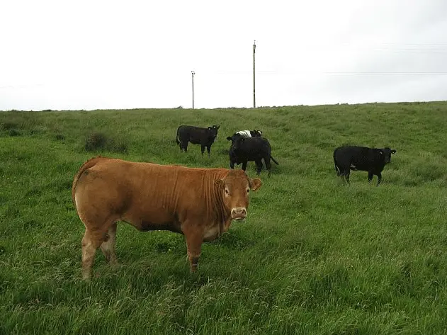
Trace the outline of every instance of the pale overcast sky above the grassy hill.
<instances>
[{"instance_id":1,"label":"pale overcast sky above the grassy hill","mask_svg":"<svg viewBox=\"0 0 447 335\"><path fill-rule=\"evenodd\" d=\"M446 0L0 1L0 110L447 100Z\"/></svg>"}]
</instances>

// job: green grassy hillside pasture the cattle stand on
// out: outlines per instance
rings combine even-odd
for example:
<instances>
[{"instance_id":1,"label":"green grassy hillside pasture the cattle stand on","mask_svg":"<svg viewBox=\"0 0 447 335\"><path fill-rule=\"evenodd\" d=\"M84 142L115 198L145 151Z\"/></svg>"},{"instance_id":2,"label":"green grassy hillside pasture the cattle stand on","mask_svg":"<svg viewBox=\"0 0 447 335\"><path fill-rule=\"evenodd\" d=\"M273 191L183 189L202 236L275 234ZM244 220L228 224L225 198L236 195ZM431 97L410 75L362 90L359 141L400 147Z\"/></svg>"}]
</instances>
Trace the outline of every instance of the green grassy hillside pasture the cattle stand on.
<instances>
[{"instance_id":1,"label":"green grassy hillside pasture the cattle stand on","mask_svg":"<svg viewBox=\"0 0 447 335\"><path fill-rule=\"evenodd\" d=\"M181 124L220 125L211 157L180 152ZM123 223L120 266L98 252L81 280L86 159L227 167L225 137L253 128L280 165L197 273L181 234ZM447 102L0 113L0 334L447 334L446 129ZM336 177L341 144L397 150L379 187Z\"/></svg>"}]
</instances>

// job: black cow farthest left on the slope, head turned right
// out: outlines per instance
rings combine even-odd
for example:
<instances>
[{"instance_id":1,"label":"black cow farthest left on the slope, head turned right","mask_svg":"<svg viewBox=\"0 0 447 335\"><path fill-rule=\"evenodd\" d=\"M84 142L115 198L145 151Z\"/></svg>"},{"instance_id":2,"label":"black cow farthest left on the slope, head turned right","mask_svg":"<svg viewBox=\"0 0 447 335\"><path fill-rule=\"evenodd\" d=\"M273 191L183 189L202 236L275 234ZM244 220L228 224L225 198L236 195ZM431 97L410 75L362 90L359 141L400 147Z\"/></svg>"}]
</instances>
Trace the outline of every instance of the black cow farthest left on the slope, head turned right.
<instances>
[{"instance_id":1,"label":"black cow farthest left on the slope, head turned right","mask_svg":"<svg viewBox=\"0 0 447 335\"><path fill-rule=\"evenodd\" d=\"M217 130L219 128L219 125L213 125L208 128L181 125L177 128L176 142L180 144L180 149L185 152L188 151L188 142L200 144L202 146L202 154L205 152L206 147L208 156L210 156L211 145L217 137Z\"/></svg>"}]
</instances>

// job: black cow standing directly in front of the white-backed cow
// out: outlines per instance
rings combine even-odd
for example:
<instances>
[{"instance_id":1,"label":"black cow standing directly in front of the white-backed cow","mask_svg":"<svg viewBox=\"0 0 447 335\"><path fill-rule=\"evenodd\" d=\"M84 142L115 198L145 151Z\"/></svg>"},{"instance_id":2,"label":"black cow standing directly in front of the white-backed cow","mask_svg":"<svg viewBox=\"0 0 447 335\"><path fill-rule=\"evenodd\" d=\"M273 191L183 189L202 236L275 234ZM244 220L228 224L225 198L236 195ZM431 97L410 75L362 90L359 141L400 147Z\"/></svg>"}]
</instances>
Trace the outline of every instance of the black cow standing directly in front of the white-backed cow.
<instances>
[{"instance_id":1,"label":"black cow standing directly in front of the white-backed cow","mask_svg":"<svg viewBox=\"0 0 447 335\"><path fill-rule=\"evenodd\" d=\"M234 164L239 165L242 163L242 170L245 171L247 169L247 161L254 161L256 163L256 174L259 175L262 169L262 159L264 159L268 176L270 176L270 159L276 165L279 165L278 161L271 157L270 143L264 137L242 137L239 134L235 134L232 137L227 137L227 140L232 142L229 152L231 169L234 169Z\"/></svg>"}]
</instances>

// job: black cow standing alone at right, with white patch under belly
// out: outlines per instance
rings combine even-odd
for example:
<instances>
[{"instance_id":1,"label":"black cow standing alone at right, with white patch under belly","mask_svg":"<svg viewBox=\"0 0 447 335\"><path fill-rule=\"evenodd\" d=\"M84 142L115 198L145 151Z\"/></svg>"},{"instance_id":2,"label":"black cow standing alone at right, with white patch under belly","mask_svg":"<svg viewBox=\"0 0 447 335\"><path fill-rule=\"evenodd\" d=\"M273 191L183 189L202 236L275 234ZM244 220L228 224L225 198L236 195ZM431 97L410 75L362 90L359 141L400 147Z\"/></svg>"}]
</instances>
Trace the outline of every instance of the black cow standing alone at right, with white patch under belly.
<instances>
[{"instance_id":1,"label":"black cow standing alone at right, with white patch under belly","mask_svg":"<svg viewBox=\"0 0 447 335\"><path fill-rule=\"evenodd\" d=\"M396 150L388 147L371 149L368 147L338 147L334 150L334 165L337 176L346 179L349 184L349 173L352 171L368 171L368 181L378 177L377 186L382 180L383 168L390 163L391 154Z\"/></svg>"}]
</instances>

